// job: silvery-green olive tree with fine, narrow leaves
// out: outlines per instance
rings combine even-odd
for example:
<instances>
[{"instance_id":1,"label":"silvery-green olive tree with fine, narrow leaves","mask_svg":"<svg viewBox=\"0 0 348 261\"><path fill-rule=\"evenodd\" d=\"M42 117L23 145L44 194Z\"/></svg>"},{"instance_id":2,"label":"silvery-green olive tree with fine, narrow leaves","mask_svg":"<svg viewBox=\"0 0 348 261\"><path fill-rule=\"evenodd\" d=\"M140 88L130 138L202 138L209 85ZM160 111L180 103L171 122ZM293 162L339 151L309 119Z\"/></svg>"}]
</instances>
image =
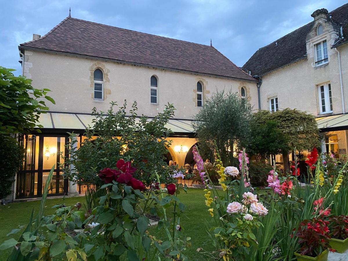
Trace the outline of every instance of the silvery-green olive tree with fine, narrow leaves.
<instances>
[{"instance_id":1,"label":"silvery-green olive tree with fine, narrow leaves","mask_svg":"<svg viewBox=\"0 0 348 261\"><path fill-rule=\"evenodd\" d=\"M242 148L247 144L251 114L252 106L246 99L232 93L232 90L216 90L192 124L202 156L213 158L215 140L223 162L236 165L234 147Z\"/></svg>"}]
</instances>

